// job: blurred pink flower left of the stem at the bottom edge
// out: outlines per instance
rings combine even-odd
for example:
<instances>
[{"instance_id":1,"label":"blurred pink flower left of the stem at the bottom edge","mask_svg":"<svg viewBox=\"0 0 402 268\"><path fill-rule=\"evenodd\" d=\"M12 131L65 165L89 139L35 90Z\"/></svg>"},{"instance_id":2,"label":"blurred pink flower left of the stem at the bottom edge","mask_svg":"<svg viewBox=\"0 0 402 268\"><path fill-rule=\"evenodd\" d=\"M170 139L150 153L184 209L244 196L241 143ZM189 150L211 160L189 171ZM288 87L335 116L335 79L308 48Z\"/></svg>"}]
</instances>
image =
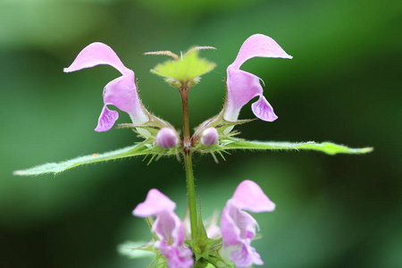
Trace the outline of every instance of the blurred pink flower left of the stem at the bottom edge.
<instances>
[{"instance_id":1,"label":"blurred pink flower left of the stem at the bottom edge","mask_svg":"<svg viewBox=\"0 0 402 268\"><path fill-rule=\"evenodd\" d=\"M154 246L160 249L170 268L187 268L194 264L193 253L184 247L184 227L174 213L175 208L176 204L169 197L153 188L149 190L146 200L137 205L133 214L144 218L155 216L152 230L160 240Z\"/></svg>"}]
</instances>

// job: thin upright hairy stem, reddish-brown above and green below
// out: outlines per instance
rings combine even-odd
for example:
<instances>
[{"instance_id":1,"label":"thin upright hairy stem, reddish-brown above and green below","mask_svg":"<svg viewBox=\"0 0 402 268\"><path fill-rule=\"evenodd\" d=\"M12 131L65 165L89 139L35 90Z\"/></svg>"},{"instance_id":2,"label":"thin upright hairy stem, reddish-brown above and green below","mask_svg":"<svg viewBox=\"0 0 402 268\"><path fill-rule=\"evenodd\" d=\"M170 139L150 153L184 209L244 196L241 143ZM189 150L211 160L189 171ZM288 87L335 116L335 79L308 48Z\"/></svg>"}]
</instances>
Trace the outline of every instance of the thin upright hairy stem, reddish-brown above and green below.
<instances>
[{"instance_id":1,"label":"thin upright hairy stem, reddish-brown above and green below","mask_svg":"<svg viewBox=\"0 0 402 268\"><path fill-rule=\"evenodd\" d=\"M194 172L191 155L191 138L189 133L188 116L188 87L179 88L181 101L183 104L183 155L184 166L186 168L187 192L188 192L188 210L190 214L191 238L195 239L197 235L197 202L196 188L194 185Z\"/></svg>"}]
</instances>

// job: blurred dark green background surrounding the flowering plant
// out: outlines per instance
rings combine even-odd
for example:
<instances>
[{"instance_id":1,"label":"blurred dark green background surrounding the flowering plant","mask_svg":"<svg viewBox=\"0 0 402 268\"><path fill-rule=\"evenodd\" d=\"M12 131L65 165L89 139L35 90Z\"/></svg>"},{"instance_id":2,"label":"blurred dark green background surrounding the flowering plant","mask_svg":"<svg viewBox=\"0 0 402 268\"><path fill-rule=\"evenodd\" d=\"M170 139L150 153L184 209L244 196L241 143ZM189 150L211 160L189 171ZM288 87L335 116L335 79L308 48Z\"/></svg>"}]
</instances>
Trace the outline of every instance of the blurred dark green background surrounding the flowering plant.
<instances>
[{"instance_id":1,"label":"blurred dark green background surrounding the flowering plant","mask_svg":"<svg viewBox=\"0 0 402 268\"><path fill-rule=\"evenodd\" d=\"M174 158L12 175L138 140L130 130L94 131L102 88L119 73L109 66L63 73L84 46L112 46L135 71L144 104L180 129L179 93L149 72L166 58L143 53L218 48L202 52L217 67L189 93L196 127L222 108L226 67L255 33L294 58L243 65L264 80L279 119L240 126L241 137L375 150L237 152L219 164L197 156L204 217L222 209L241 180L255 180L277 204L255 215L264 267L402 267L401 18L398 0L0 1L0 267L146 267L150 259L116 251L151 238L132 209L159 188L184 213L185 175ZM120 114L118 122L129 121ZM240 118L253 118L250 104Z\"/></svg>"}]
</instances>

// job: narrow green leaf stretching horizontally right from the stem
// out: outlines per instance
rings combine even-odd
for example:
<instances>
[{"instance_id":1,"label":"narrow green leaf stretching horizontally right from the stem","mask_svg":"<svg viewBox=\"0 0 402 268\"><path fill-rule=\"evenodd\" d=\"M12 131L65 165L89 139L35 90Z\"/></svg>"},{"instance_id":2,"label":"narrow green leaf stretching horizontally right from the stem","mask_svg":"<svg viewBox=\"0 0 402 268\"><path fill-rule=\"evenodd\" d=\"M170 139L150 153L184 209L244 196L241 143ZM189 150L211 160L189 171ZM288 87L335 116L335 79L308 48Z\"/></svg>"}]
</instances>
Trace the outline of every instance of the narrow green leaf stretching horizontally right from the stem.
<instances>
[{"instance_id":1,"label":"narrow green leaf stretching horizontally right from the stem","mask_svg":"<svg viewBox=\"0 0 402 268\"><path fill-rule=\"evenodd\" d=\"M328 155L336 154L365 154L373 151L373 147L349 148L331 142L278 142L278 141L248 141L241 139L221 140L221 150L313 150ZM216 151L219 149L216 149Z\"/></svg>"}]
</instances>

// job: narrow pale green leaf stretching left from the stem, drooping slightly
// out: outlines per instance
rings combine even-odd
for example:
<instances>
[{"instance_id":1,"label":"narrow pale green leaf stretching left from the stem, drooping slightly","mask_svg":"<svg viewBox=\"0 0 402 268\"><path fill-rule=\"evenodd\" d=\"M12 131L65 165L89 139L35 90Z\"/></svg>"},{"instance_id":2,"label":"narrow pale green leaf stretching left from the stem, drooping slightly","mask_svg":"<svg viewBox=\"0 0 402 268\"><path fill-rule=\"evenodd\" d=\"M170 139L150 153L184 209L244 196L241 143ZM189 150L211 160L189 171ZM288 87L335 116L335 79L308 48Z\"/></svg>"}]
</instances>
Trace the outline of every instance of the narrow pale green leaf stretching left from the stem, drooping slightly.
<instances>
[{"instance_id":1,"label":"narrow pale green leaf stretching left from the stem, drooping slightly","mask_svg":"<svg viewBox=\"0 0 402 268\"><path fill-rule=\"evenodd\" d=\"M154 152L152 152L151 150L152 148L147 147L147 145L138 144L135 146L124 147L104 154L79 156L77 158L60 163L45 163L32 167L27 170L13 172L13 174L21 176L40 175L46 173L55 174L87 163L105 162L109 160L120 159L130 156L153 154Z\"/></svg>"}]
</instances>

